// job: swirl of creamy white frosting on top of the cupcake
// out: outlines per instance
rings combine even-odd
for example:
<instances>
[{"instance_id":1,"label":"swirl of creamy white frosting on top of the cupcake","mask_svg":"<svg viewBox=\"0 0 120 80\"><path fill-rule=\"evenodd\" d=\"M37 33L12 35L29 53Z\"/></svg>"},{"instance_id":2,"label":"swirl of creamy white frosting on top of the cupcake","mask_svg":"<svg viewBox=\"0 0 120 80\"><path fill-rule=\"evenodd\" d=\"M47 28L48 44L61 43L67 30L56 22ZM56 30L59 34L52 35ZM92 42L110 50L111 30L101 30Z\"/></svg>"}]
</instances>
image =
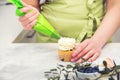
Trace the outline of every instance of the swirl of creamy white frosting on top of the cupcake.
<instances>
[{"instance_id":1,"label":"swirl of creamy white frosting on top of the cupcake","mask_svg":"<svg viewBox=\"0 0 120 80\"><path fill-rule=\"evenodd\" d=\"M74 38L62 37L58 40L59 50L71 50L74 49L76 41Z\"/></svg>"}]
</instances>

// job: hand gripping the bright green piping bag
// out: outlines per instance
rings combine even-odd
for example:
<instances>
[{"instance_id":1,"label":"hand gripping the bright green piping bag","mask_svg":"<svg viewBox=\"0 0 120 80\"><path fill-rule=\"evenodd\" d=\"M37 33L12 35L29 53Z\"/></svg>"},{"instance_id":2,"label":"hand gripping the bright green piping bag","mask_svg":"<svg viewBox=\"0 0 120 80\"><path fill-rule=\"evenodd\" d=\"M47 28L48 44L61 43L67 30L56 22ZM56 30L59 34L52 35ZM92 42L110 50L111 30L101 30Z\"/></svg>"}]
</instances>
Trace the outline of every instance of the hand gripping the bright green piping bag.
<instances>
[{"instance_id":1,"label":"hand gripping the bright green piping bag","mask_svg":"<svg viewBox=\"0 0 120 80\"><path fill-rule=\"evenodd\" d=\"M40 14L39 10L31 5L24 3L23 1L22 3L25 7L22 8L21 11L25 12L26 14L19 17L19 21L25 30L32 30L32 27L36 24L37 17Z\"/></svg>"}]
</instances>

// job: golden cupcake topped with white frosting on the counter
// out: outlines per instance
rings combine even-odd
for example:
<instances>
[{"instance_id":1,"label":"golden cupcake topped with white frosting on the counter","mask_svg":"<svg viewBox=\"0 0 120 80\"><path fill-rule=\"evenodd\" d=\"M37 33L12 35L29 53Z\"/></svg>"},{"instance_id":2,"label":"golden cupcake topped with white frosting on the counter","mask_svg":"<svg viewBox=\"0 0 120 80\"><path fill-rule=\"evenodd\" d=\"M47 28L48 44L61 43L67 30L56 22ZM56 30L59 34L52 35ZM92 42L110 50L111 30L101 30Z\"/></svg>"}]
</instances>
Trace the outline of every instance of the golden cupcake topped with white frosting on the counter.
<instances>
[{"instance_id":1,"label":"golden cupcake topped with white frosting on the counter","mask_svg":"<svg viewBox=\"0 0 120 80\"><path fill-rule=\"evenodd\" d=\"M58 40L58 55L61 61L69 62L75 50L74 38L60 38Z\"/></svg>"}]
</instances>

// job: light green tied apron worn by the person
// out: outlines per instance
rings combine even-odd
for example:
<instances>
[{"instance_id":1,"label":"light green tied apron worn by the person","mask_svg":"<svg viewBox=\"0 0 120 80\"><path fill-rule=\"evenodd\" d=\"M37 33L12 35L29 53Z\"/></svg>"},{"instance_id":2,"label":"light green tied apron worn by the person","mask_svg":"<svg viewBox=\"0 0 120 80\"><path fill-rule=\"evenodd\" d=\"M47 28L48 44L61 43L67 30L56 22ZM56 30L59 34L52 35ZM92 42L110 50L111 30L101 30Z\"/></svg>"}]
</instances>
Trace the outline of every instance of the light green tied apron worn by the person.
<instances>
[{"instance_id":1,"label":"light green tied apron worn by the person","mask_svg":"<svg viewBox=\"0 0 120 80\"><path fill-rule=\"evenodd\" d=\"M103 0L53 0L42 5L41 14L62 37L81 42L90 38L104 16ZM37 32L37 42L57 42L57 39Z\"/></svg>"}]
</instances>

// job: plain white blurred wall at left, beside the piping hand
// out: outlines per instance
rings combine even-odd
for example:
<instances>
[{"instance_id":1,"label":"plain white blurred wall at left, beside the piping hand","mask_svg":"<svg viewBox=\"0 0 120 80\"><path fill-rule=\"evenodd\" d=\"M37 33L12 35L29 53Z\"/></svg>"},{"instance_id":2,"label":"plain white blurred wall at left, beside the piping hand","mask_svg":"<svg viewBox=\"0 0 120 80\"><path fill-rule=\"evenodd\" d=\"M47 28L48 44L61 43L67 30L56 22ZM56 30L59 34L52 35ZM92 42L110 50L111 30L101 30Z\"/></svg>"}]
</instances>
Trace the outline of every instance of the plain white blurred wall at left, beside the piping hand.
<instances>
[{"instance_id":1,"label":"plain white blurred wall at left, beside the piping hand","mask_svg":"<svg viewBox=\"0 0 120 80\"><path fill-rule=\"evenodd\" d=\"M0 6L0 46L4 47L12 43L22 30L15 15L15 7Z\"/></svg>"}]
</instances>

